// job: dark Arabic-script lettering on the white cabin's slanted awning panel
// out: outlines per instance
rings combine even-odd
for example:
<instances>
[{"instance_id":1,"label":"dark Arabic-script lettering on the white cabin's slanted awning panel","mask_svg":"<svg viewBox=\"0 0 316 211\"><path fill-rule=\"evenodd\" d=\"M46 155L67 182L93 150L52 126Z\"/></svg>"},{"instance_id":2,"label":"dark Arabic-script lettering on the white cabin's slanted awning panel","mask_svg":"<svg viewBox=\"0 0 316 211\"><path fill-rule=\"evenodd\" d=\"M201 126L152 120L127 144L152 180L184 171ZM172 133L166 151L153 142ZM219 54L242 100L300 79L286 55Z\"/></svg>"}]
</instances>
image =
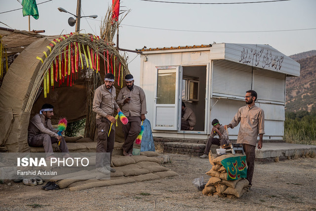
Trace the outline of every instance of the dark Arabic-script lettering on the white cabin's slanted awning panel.
<instances>
[{"instance_id":1,"label":"dark Arabic-script lettering on the white cabin's slanted awning panel","mask_svg":"<svg viewBox=\"0 0 316 211\"><path fill-rule=\"evenodd\" d=\"M239 62L259 68L269 67L280 70L283 59L284 56L274 55L271 50L263 47L259 50L243 48L240 51Z\"/></svg>"}]
</instances>

